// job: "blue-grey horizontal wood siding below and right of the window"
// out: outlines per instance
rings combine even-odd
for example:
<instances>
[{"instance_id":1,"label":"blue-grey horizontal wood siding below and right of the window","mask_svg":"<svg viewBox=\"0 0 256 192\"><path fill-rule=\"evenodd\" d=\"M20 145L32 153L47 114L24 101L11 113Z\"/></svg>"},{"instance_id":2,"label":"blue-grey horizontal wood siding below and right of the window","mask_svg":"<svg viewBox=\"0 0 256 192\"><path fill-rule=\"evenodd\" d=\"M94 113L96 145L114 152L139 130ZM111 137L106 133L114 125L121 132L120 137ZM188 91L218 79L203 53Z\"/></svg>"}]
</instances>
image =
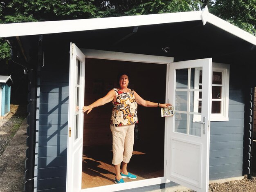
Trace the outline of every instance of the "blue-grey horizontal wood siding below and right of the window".
<instances>
[{"instance_id":1,"label":"blue-grey horizontal wood siding below and right of the window","mask_svg":"<svg viewBox=\"0 0 256 192\"><path fill-rule=\"evenodd\" d=\"M231 65L229 121L211 122L209 179L242 176L245 95Z\"/></svg>"}]
</instances>

